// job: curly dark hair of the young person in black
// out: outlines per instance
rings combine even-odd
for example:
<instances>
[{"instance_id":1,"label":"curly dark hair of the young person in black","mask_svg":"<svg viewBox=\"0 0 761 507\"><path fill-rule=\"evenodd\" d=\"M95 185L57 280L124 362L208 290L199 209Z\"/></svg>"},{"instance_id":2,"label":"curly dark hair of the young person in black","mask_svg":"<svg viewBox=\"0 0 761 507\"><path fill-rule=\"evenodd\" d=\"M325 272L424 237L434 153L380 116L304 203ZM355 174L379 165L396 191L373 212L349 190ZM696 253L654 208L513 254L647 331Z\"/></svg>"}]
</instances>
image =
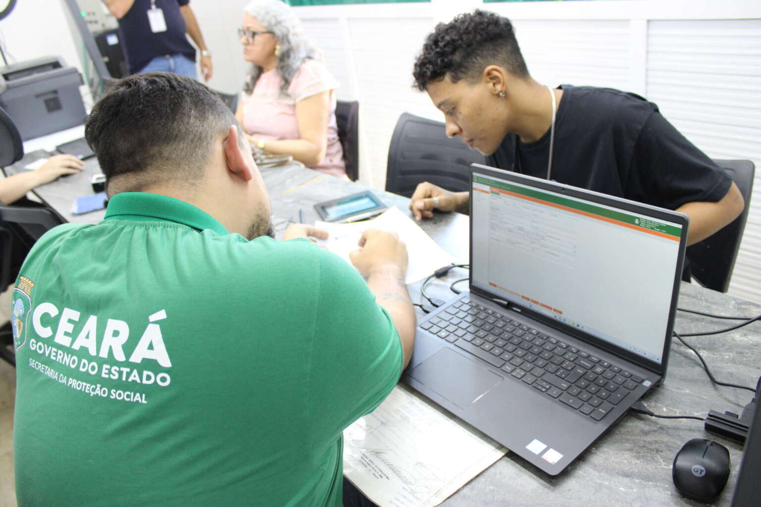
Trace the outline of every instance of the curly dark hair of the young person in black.
<instances>
[{"instance_id":1,"label":"curly dark hair of the young person in black","mask_svg":"<svg viewBox=\"0 0 761 507\"><path fill-rule=\"evenodd\" d=\"M500 65L520 78L529 75L510 20L476 10L436 25L412 75L418 90L425 91L431 81L441 81L447 74L455 83L463 78L473 81L488 65Z\"/></svg>"}]
</instances>

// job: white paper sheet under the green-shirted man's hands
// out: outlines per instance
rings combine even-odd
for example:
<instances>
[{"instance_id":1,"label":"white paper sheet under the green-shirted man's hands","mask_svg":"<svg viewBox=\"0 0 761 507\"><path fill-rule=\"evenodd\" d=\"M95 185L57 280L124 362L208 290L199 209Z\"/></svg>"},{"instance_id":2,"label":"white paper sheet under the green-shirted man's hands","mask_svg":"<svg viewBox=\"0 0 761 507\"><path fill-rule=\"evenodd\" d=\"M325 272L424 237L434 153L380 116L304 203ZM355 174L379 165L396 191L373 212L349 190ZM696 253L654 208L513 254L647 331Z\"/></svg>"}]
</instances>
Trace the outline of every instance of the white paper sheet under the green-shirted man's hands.
<instances>
[{"instance_id":1,"label":"white paper sheet under the green-shirted man's hands","mask_svg":"<svg viewBox=\"0 0 761 507\"><path fill-rule=\"evenodd\" d=\"M373 220L354 223L330 223L317 220L317 229L326 230L330 238L318 242L331 252L349 261L349 252L358 249L357 242L366 229L393 231L407 246L407 273L405 282L413 284L432 274L438 268L450 265L455 261L441 246L431 239L420 226L406 216L399 208L393 207L384 211Z\"/></svg>"}]
</instances>

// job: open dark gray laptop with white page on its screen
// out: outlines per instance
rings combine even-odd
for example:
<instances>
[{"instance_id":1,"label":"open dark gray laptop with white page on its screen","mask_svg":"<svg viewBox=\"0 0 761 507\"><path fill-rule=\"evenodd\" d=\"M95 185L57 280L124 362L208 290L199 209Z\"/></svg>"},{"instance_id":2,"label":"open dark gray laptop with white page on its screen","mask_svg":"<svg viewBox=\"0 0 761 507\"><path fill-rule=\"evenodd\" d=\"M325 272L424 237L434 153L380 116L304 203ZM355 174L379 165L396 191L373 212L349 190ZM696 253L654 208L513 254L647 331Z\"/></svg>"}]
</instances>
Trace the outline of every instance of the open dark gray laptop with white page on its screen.
<instances>
[{"instance_id":1,"label":"open dark gray laptop with white page on its screen","mask_svg":"<svg viewBox=\"0 0 761 507\"><path fill-rule=\"evenodd\" d=\"M666 374L688 218L470 166L470 293L404 381L556 475Z\"/></svg>"}]
</instances>

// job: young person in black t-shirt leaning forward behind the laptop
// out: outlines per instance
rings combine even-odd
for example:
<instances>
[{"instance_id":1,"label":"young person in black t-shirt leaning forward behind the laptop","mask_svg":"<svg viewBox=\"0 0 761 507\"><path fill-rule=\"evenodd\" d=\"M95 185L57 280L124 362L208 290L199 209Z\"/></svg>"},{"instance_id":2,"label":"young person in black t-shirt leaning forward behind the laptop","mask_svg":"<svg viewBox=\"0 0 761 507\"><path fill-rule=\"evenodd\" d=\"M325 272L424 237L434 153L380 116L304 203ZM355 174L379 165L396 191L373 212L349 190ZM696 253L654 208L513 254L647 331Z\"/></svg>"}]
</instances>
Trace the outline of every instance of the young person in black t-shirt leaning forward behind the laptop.
<instances>
[{"instance_id":1,"label":"young person in black t-shirt leaning forward behind the laptop","mask_svg":"<svg viewBox=\"0 0 761 507\"><path fill-rule=\"evenodd\" d=\"M412 74L444 113L447 135L459 135L492 166L680 211L690 219L688 244L743 210L737 185L654 103L534 81L511 22L498 14L474 11L438 24ZM468 192L424 182L409 208L417 220L435 208L467 213Z\"/></svg>"}]
</instances>

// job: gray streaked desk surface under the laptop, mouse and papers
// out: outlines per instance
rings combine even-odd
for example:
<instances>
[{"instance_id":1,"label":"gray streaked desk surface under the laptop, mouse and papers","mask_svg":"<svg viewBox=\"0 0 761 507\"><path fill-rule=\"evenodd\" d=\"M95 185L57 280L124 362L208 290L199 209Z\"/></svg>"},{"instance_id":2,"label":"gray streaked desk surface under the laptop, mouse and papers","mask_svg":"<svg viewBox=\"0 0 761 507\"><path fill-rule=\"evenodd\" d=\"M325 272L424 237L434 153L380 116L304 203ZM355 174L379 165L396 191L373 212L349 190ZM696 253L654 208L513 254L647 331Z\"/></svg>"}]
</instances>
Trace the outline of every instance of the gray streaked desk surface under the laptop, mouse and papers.
<instances>
[{"instance_id":1,"label":"gray streaked desk surface under the laptop, mouse and papers","mask_svg":"<svg viewBox=\"0 0 761 507\"><path fill-rule=\"evenodd\" d=\"M37 152L27 156L31 158L22 160L20 164L29 163L35 154ZM11 167L8 172L13 173L14 168ZM89 174L96 172L97 162L90 160L85 164L83 174L44 185L36 193L68 220L97 223L103 212L79 217L68 213L75 197L91 193ZM317 202L365 189L356 183L297 166L263 170L262 176L269 189L273 222L279 235L288 223L298 220L299 209L304 211L307 223L312 223L317 220L313 208ZM406 198L386 192L376 193L386 204L407 211L409 201ZM437 214L434 219L425 220L421 225L444 249L462 261L467 260L468 217ZM466 275L465 271L452 270L440 284L429 286L429 295L448 299L451 296L448 285ZM409 287L416 303L420 302L421 297L419 287L420 284ZM691 284L682 285L680 307L724 315L761 313L761 305ZM689 333L725 328L732 323L677 312L675 328ZM761 322L728 334L685 339L704 353L717 379L751 387L756 385L756 379L761 375ZM696 356L674 341L666 381L645 398L645 404L656 414L705 417L709 409L738 413L750 398L750 391L712 385ZM447 499L444 505L701 505L680 496L671 480L674 455L684 442L693 438L714 439L729 449L731 476L715 505L730 505L740 464L741 445L706 433L698 420L663 420L637 414L624 417L559 477L550 478L508 453Z\"/></svg>"}]
</instances>

